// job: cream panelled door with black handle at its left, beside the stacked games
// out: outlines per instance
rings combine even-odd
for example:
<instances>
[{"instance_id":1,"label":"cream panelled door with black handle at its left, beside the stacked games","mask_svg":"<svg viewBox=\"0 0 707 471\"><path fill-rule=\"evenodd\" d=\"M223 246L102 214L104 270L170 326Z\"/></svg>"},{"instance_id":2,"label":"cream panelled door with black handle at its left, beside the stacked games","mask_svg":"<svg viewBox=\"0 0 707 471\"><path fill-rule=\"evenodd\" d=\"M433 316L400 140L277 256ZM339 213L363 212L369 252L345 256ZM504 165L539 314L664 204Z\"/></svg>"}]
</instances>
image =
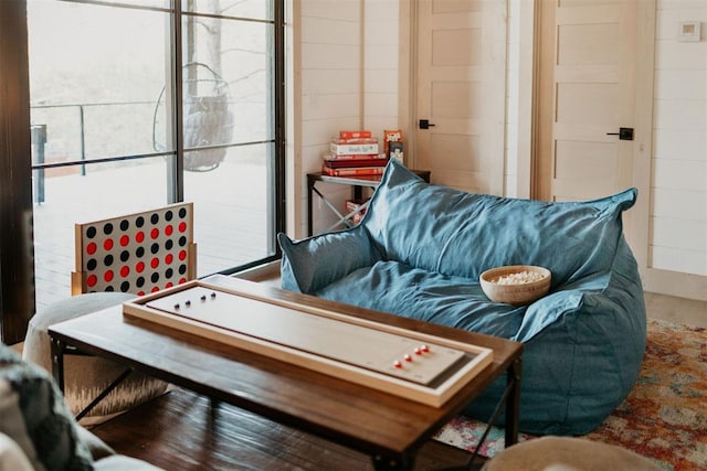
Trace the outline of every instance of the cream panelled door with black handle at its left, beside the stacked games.
<instances>
[{"instance_id":1,"label":"cream panelled door with black handle at its left, beside the stacked games","mask_svg":"<svg viewBox=\"0 0 707 471\"><path fill-rule=\"evenodd\" d=\"M503 193L505 12L504 0L418 3L412 162L431 170L433 183Z\"/></svg>"}]
</instances>

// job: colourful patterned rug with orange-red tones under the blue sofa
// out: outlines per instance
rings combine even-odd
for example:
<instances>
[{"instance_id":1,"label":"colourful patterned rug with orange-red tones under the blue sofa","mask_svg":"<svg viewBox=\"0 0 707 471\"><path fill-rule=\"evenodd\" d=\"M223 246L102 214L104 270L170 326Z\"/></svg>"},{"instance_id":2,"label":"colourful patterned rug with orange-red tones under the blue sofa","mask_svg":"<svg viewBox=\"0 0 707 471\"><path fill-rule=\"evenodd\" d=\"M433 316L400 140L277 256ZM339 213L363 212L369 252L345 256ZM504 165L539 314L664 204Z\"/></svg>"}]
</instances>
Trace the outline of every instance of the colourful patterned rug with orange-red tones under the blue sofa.
<instances>
[{"instance_id":1,"label":"colourful patterned rug with orange-red tones under the blue sofa","mask_svg":"<svg viewBox=\"0 0 707 471\"><path fill-rule=\"evenodd\" d=\"M435 439L473 451L485 424L458 417ZM648 341L631 394L584 438L618 445L666 470L707 469L707 330L648 320ZM521 435L520 441L532 439ZM504 449L504 431L492 428L479 454Z\"/></svg>"}]
</instances>

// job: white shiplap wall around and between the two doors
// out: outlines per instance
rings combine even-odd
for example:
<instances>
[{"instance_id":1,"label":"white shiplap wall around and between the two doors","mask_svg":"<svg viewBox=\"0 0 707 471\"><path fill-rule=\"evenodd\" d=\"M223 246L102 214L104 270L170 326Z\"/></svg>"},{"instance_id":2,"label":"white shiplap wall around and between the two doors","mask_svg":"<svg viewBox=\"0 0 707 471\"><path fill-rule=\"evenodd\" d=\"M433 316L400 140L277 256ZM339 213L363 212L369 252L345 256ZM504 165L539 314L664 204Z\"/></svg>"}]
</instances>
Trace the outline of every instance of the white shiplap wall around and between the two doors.
<instances>
[{"instance_id":1,"label":"white shiplap wall around and between the two doors","mask_svg":"<svg viewBox=\"0 0 707 471\"><path fill-rule=\"evenodd\" d=\"M331 132L362 126L382 132L389 122L405 130L407 162L415 164L414 83L418 1L300 0L294 2L293 74L299 90L294 118L297 129L291 165L299 192L294 233L306 227L305 173L319 167ZM542 0L507 0L504 194L526 197L534 173L530 149L537 138L536 56ZM636 234L632 246L646 290L687 298L707 296L707 1L641 0L642 38L655 54L640 58L633 179L639 204L626 224ZM655 21L655 24L653 24ZM680 22L700 22L698 42L678 42ZM388 32L391 32L388 34ZM395 31L395 34L392 32ZM388 58L391 51L395 58ZM346 60L344 60L346 57ZM655 66L654 66L655 63ZM650 79L648 79L650 77ZM653 84L655 82L655 84ZM645 90L643 89L645 88ZM539 103L538 106L542 106ZM390 114L388 114L390 110ZM641 122L641 125L639 124ZM647 124L647 125L646 125ZM541 169L539 169L541 171ZM535 176L537 179L537 176ZM336 191L336 190L335 190ZM339 189L341 201L348 191ZM324 216L323 208L315 207ZM326 224L326 221L321 225ZM315 227L316 229L316 227ZM701 297L701 298L700 298Z\"/></svg>"}]
</instances>

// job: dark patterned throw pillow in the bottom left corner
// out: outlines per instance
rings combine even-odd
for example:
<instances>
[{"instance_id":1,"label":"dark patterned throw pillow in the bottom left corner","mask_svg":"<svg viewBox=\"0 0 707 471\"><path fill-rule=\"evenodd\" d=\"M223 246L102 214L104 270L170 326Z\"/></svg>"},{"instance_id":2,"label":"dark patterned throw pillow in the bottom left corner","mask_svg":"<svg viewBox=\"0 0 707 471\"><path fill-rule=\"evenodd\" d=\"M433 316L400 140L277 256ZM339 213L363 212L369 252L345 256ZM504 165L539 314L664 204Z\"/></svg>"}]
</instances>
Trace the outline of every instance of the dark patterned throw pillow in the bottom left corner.
<instances>
[{"instance_id":1,"label":"dark patterned throw pillow in the bottom left corner","mask_svg":"<svg viewBox=\"0 0 707 471\"><path fill-rule=\"evenodd\" d=\"M0 408L4 408L0 417L17 417L23 422L2 420L0 431L18 442L28 458L39 460L49 471L93 469L91 453L80 440L77 424L53 379L4 344L0 344L0 386L6 399L0 400ZM13 397L17 400L8 400Z\"/></svg>"}]
</instances>

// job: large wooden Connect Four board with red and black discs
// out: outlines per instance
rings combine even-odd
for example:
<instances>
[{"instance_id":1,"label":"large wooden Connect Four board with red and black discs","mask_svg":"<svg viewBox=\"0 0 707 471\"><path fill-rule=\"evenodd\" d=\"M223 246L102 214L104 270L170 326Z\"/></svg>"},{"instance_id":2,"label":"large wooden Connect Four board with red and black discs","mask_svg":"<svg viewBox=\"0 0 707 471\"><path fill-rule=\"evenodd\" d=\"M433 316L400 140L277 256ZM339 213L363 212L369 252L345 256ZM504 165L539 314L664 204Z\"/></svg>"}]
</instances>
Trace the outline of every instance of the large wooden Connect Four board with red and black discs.
<instances>
[{"instance_id":1,"label":"large wooden Connect Four board with red and black discs","mask_svg":"<svg viewBox=\"0 0 707 471\"><path fill-rule=\"evenodd\" d=\"M143 296L196 278L192 203L76 224L75 236L72 295Z\"/></svg>"}]
</instances>

